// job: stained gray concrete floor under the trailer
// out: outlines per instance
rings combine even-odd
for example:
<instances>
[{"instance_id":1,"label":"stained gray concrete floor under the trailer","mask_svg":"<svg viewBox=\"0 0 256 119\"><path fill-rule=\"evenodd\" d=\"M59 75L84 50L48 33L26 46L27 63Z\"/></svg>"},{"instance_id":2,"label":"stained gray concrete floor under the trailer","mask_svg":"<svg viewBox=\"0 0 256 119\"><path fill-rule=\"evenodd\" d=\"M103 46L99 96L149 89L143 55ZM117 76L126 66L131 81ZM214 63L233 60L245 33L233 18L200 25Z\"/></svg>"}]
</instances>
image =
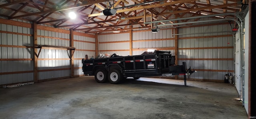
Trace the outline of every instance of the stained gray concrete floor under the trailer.
<instances>
[{"instance_id":1,"label":"stained gray concrete floor under the trailer","mask_svg":"<svg viewBox=\"0 0 256 119\"><path fill-rule=\"evenodd\" d=\"M231 84L92 76L0 88L1 119L247 119Z\"/></svg>"}]
</instances>

